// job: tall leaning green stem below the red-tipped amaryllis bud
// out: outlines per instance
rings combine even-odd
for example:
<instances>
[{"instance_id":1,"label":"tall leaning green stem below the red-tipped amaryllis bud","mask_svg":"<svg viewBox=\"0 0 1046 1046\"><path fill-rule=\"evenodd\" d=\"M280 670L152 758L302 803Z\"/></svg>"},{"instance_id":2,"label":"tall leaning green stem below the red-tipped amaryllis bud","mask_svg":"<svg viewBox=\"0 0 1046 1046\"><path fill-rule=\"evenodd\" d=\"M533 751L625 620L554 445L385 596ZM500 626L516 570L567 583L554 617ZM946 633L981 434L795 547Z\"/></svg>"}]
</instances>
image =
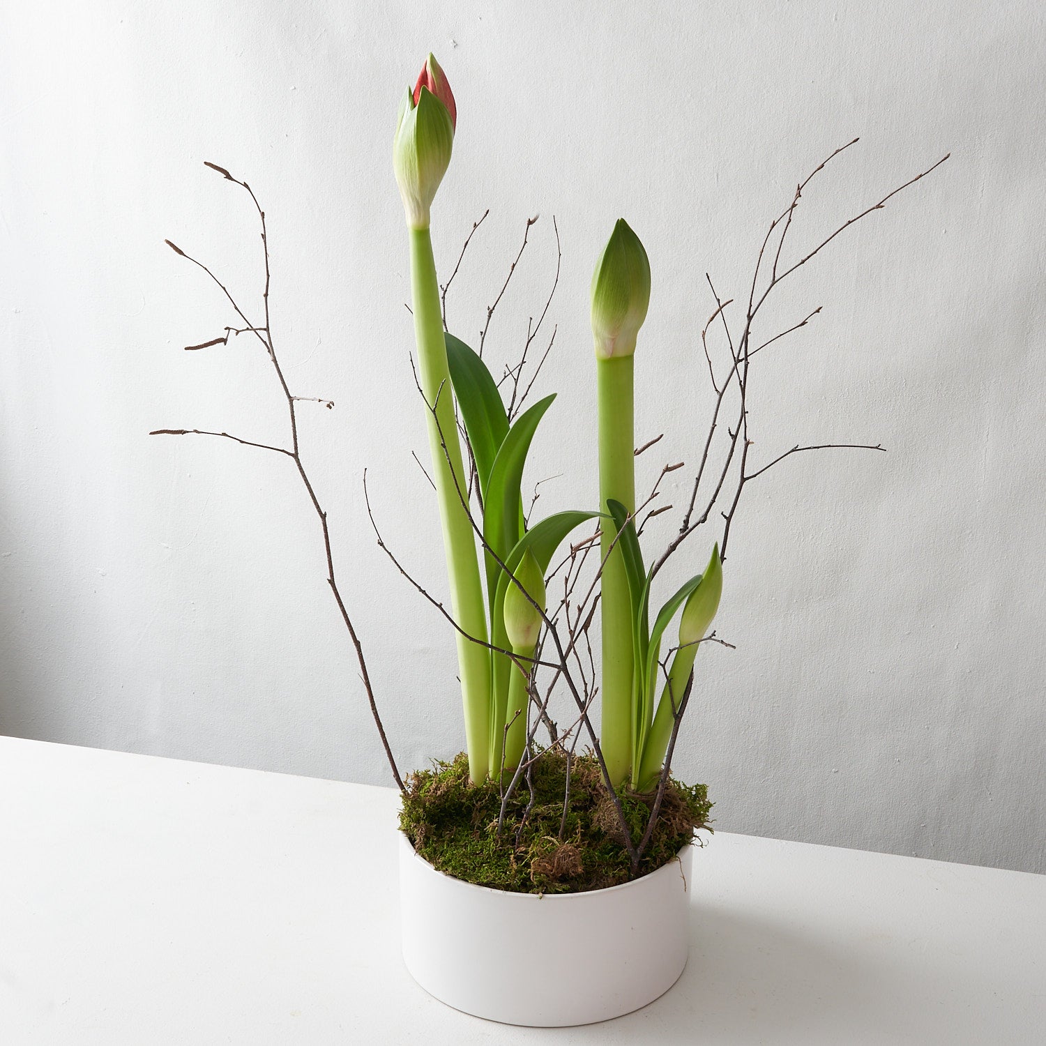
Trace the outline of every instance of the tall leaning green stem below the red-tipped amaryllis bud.
<instances>
[{"instance_id":1,"label":"tall leaning green stem below the red-tipped amaryllis bud","mask_svg":"<svg viewBox=\"0 0 1046 1046\"><path fill-rule=\"evenodd\" d=\"M486 642L486 611L479 581L476 540L462 495L467 490L461 463L461 445L454 417L454 393L447 367L439 311L439 285L432 256L429 230L410 230L410 275L414 299L414 335L422 391L435 416L429 411L429 449L433 480L439 501L444 550L451 583L451 614L468 636ZM446 447L446 449L445 449ZM488 772L491 721L491 655L485 646L457 634L461 700L464 705L465 746L469 776L482 781Z\"/></svg>"}]
</instances>

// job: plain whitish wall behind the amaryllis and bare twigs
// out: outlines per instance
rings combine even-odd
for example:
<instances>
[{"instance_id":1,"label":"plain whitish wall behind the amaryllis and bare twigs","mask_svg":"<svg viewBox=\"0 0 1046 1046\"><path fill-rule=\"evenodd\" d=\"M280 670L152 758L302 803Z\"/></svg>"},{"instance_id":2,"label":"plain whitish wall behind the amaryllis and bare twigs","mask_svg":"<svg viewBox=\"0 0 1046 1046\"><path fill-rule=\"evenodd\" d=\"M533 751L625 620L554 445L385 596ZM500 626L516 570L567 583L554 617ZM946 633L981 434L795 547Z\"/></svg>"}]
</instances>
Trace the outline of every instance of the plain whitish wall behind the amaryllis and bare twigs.
<instances>
[{"instance_id":1,"label":"plain whitish wall behind the amaryllis and bare twigs","mask_svg":"<svg viewBox=\"0 0 1046 1046\"><path fill-rule=\"evenodd\" d=\"M756 460L889 453L752 484L719 622L737 650L702 655L678 767L725 829L1046 871L1038 4L40 0L7 6L0 41L0 731L388 781L289 463L146 435L286 438L249 341L181 350L233 320L164 237L259 289L254 220L212 160L269 211L294 389L337 403L303 411L302 440L399 757L461 746L450 636L376 549L360 487L366 465L389 543L441 591L389 156L432 48L459 106L445 276L491 208L452 327L479 329L540 212L491 326L514 356L553 214L562 233L540 382L560 400L530 474L565 474L548 509L594 500L587 289L618 215L654 269L637 432L666 434L645 482L697 460L704 273L741 295L769 219L855 135L795 251L951 151L767 318L769 336L824 305L763 357Z\"/></svg>"}]
</instances>

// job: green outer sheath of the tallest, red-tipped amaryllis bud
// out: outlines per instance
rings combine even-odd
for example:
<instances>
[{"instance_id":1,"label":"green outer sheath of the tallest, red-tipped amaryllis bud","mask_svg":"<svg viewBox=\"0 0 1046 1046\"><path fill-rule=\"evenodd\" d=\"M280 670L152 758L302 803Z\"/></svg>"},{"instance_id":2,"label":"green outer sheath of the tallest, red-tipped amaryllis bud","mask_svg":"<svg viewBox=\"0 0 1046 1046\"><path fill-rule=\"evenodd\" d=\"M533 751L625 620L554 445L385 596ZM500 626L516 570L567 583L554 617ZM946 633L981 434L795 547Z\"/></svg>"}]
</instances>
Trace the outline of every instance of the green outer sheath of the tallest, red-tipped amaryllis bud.
<instances>
[{"instance_id":1,"label":"green outer sheath of the tallest, red-tipped amaryllis bud","mask_svg":"<svg viewBox=\"0 0 1046 1046\"><path fill-rule=\"evenodd\" d=\"M425 85L415 104L407 88L400 103L392 167L412 229L429 227L429 211L450 165L453 146L454 123L447 107Z\"/></svg>"}]
</instances>

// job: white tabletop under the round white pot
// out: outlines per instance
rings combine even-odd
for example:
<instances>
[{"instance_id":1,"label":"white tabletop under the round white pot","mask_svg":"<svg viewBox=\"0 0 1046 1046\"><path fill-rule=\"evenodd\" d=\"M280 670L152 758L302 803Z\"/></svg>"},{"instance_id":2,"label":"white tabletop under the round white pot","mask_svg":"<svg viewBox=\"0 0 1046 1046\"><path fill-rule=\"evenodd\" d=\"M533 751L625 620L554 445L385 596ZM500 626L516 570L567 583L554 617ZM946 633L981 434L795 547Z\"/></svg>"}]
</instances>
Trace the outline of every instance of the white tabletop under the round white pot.
<instances>
[{"instance_id":1,"label":"white tabletop under the round white pot","mask_svg":"<svg viewBox=\"0 0 1046 1046\"><path fill-rule=\"evenodd\" d=\"M401 961L395 809L0 738L0 1043L1046 1043L1046 877L723 833L666 996L586 1028L467 1017Z\"/></svg>"}]
</instances>

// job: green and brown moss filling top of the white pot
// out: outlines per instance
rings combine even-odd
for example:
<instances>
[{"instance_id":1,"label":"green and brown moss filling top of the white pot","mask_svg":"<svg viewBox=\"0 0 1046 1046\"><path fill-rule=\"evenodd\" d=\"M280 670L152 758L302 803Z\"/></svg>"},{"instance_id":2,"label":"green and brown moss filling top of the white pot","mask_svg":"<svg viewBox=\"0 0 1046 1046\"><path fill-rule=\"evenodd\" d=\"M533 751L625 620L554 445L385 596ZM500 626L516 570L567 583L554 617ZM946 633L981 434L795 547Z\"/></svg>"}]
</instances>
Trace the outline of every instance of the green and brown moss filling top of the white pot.
<instances>
[{"instance_id":1,"label":"green and brown moss filling top of the white pot","mask_svg":"<svg viewBox=\"0 0 1046 1046\"><path fill-rule=\"evenodd\" d=\"M636 878L613 800L591 754L575 756L571 763L570 808L561 838L566 769L562 752L542 753L532 772L533 808L524 819L530 792L521 780L499 838L498 786L493 781L470 784L469 760L462 752L451 763L435 763L432 770L419 770L407 778L400 827L433 867L479 886L564 893L598 890ZM654 795L622 789L618 796L632 838L638 842ZM708 827L710 810L704 784L688 787L672 778L639 874L666 864L691 841L695 829Z\"/></svg>"}]
</instances>

